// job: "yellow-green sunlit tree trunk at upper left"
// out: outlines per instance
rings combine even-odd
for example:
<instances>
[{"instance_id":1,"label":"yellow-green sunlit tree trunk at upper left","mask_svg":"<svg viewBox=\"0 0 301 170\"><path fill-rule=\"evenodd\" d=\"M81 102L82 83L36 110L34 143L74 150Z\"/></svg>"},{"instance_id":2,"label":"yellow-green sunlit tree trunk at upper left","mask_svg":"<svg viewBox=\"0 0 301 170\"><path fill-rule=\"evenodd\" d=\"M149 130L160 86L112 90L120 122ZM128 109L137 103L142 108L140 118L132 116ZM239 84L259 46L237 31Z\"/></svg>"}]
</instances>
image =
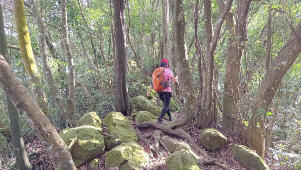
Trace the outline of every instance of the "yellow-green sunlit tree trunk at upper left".
<instances>
[{"instance_id":1,"label":"yellow-green sunlit tree trunk at upper left","mask_svg":"<svg viewBox=\"0 0 301 170\"><path fill-rule=\"evenodd\" d=\"M29 77L33 96L42 108L44 114L47 114L49 110L48 101L43 92L42 82L38 76L39 73L31 46L23 0L13 0L13 9L18 31L18 40L21 48L21 59Z\"/></svg>"}]
</instances>

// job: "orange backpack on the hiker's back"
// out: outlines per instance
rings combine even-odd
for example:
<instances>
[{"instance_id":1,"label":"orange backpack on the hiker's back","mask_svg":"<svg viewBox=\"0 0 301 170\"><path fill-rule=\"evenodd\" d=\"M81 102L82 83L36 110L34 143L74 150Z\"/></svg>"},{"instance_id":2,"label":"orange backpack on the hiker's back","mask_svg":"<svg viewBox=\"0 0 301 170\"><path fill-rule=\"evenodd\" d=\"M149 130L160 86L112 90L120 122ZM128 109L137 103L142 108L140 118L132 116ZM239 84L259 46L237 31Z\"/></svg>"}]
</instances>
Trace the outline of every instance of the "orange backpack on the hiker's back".
<instances>
[{"instance_id":1,"label":"orange backpack on the hiker's back","mask_svg":"<svg viewBox=\"0 0 301 170\"><path fill-rule=\"evenodd\" d=\"M164 88L167 87L167 81L164 76L165 69L166 69L165 67L156 68L155 71L153 72L153 75L152 75L153 86L157 92L162 91L162 90L164 90Z\"/></svg>"}]
</instances>

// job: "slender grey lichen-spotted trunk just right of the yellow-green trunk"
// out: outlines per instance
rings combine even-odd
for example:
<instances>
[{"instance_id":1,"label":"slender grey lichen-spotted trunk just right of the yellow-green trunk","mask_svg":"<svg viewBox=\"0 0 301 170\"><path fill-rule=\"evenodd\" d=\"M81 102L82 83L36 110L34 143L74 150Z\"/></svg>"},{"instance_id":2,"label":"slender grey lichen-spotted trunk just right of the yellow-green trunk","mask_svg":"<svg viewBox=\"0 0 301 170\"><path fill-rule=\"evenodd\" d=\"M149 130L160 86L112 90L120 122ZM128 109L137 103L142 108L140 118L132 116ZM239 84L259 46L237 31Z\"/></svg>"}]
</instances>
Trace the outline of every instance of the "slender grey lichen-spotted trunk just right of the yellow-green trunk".
<instances>
[{"instance_id":1,"label":"slender grey lichen-spotted trunk just right of the yellow-green trunk","mask_svg":"<svg viewBox=\"0 0 301 170\"><path fill-rule=\"evenodd\" d=\"M48 56L46 53L46 27L43 22L43 19L38 11L38 8L36 6L35 0L30 0L30 8L33 12L34 18L37 22L38 26L38 32L39 32L39 48L40 48L40 56L43 59L43 68L44 68L44 76L47 80L47 84L50 87L50 91L52 94L52 97L54 99L55 104L58 107L59 115L64 121L64 123L68 122L68 110L66 109L66 103L63 100L62 95L60 94L59 90L57 89L55 85L55 81L53 78L52 70L50 68L49 62L48 62Z\"/></svg>"}]
</instances>

